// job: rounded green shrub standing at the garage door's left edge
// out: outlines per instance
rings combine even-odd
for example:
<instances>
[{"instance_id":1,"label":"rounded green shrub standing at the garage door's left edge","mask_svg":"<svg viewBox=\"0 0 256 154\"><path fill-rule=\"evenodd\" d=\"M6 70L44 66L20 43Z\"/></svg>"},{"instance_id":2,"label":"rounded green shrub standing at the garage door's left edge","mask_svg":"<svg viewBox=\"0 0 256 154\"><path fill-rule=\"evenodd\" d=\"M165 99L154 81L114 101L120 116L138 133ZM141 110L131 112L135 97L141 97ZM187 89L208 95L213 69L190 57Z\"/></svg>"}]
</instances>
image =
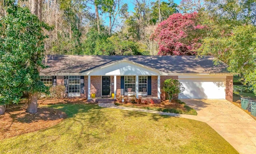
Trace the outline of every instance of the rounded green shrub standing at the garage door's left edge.
<instances>
[{"instance_id":1,"label":"rounded green shrub standing at the garage door's left edge","mask_svg":"<svg viewBox=\"0 0 256 154\"><path fill-rule=\"evenodd\" d=\"M180 81L176 79L167 79L164 81L163 90L168 94L169 102L171 102L172 99L177 97L179 93L182 93L185 88Z\"/></svg>"}]
</instances>

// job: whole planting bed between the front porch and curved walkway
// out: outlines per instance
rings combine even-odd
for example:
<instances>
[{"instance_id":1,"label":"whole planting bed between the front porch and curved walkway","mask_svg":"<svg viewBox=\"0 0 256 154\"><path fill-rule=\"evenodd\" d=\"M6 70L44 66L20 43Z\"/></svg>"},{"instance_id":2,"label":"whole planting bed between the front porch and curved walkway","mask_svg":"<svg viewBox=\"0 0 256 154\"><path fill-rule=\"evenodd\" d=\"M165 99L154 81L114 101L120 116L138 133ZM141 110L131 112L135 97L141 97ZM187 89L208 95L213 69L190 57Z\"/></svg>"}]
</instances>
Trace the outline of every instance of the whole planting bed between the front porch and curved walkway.
<instances>
[{"instance_id":1,"label":"whole planting bed between the front porch and curved walkway","mask_svg":"<svg viewBox=\"0 0 256 154\"><path fill-rule=\"evenodd\" d=\"M162 101L161 104L134 104L134 103L118 103L115 102L115 105L122 106L122 107L132 107L138 109L146 109L146 110L153 110L153 111L161 111L167 113L179 113L185 115L197 115L195 109L192 109L186 103L180 100L172 100L169 103L169 100Z\"/></svg>"}]
</instances>

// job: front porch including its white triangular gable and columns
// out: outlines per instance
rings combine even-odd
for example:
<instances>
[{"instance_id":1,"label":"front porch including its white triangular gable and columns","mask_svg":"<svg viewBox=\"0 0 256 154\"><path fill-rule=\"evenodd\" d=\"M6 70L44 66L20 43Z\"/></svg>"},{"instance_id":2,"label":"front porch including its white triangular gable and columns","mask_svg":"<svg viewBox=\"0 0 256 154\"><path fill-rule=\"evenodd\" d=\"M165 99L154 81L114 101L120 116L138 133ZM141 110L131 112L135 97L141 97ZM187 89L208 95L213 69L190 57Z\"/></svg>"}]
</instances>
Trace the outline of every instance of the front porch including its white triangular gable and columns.
<instances>
[{"instance_id":1,"label":"front porch including its white triangular gable and columns","mask_svg":"<svg viewBox=\"0 0 256 154\"><path fill-rule=\"evenodd\" d=\"M168 75L162 71L140 65L128 60L98 67L83 75L88 77L88 100L96 97L122 96L156 97L160 99L160 76Z\"/></svg>"}]
</instances>

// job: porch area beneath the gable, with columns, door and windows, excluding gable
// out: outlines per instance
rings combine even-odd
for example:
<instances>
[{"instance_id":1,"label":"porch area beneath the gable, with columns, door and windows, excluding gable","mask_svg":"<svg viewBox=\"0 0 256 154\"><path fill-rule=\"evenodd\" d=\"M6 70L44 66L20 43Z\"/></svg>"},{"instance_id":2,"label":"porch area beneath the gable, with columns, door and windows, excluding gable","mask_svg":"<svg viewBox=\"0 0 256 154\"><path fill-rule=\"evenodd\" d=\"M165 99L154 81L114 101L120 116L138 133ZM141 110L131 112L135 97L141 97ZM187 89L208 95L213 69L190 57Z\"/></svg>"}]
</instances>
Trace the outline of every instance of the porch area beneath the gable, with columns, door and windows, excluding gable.
<instances>
[{"instance_id":1,"label":"porch area beneath the gable, with columns, door and windows, excluding gable","mask_svg":"<svg viewBox=\"0 0 256 154\"><path fill-rule=\"evenodd\" d=\"M85 80L86 81L86 80ZM114 95L123 97L156 97L160 99L160 76L147 75L110 75L88 76L88 99L92 96L110 98ZM86 84L85 84L86 85ZM85 87L86 88L86 87Z\"/></svg>"}]
</instances>

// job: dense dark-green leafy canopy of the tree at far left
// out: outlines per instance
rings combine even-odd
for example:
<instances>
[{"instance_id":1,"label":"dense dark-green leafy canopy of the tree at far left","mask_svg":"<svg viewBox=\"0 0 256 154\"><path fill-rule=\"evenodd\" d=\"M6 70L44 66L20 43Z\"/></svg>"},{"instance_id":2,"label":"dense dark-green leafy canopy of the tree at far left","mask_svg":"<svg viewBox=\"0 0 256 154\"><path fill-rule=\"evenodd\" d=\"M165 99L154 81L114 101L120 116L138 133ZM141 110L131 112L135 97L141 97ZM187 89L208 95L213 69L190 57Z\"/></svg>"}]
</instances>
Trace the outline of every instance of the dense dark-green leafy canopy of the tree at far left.
<instances>
[{"instance_id":1,"label":"dense dark-green leafy canopy of the tree at far left","mask_svg":"<svg viewBox=\"0 0 256 154\"><path fill-rule=\"evenodd\" d=\"M43 29L41 22L28 8L8 0L6 16L0 19L0 105L18 103L23 92L46 92L36 67L44 68Z\"/></svg>"}]
</instances>

